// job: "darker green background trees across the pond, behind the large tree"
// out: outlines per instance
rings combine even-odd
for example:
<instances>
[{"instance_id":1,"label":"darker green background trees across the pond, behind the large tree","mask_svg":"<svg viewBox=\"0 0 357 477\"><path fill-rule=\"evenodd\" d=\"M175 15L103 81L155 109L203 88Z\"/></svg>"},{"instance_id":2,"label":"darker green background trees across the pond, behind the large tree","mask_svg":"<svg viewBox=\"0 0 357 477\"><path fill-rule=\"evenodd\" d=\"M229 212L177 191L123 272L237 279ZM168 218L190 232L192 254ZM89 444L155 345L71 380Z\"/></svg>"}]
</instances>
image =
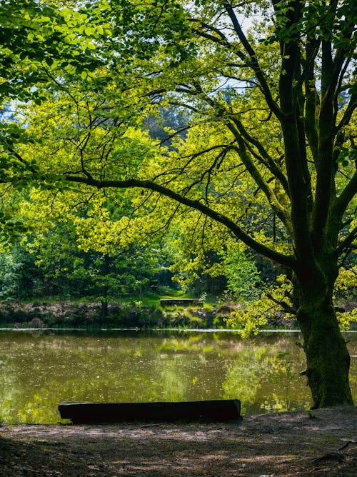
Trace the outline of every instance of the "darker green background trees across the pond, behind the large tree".
<instances>
[{"instance_id":1,"label":"darker green background trees across the pond, behind the large tree","mask_svg":"<svg viewBox=\"0 0 357 477\"><path fill-rule=\"evenodd\" d=\"M183 122L173 112L161 110L159 119L149 116L144 127L152 139L166 142L165 128L186 130L187 119ZM52 219L45 231L37 231L36 226L26 231L14 228L18 236L6 243L0 256L3 301L115 301L178 294L246 303L259 298L281 273L261 256L245 248L241 251L238 243L231 243L229 251L226 246L218 251L199 251L199 245L199 252L191 250L181 219L172 229L108 252L91 246L84 248L83 236L76 226L81 212L76 211L71 220L64 220L63 216ZM200 239L199 234L191 234L191 238ZM204 240L204 234L201 239ZM203 256L198 257L198 253ZM346 283L345 293L340 293L339 298L348 298L351 287L353 283Z\"/></svg>"}]
</instances>

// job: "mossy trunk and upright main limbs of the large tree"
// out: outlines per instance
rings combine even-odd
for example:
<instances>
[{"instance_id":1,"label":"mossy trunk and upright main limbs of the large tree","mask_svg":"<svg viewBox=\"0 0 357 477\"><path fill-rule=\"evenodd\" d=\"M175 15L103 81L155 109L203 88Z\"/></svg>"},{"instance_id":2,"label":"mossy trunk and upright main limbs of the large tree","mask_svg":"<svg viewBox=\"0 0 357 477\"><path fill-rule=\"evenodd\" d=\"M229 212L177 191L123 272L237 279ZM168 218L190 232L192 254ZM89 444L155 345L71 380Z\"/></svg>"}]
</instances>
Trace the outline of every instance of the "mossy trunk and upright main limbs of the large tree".
<instances>
[{"instance_id":1,"label":"mossy trunk and upright main limbs of the large tree","mask_svg":"<svg viewBox=\"0 0 357 477\"><path fill-rule=\"evenodd\" d=\"M281 4L274 5L278 16L284 14L280 10ZM313 408L352 405L348 383L350 357L333 307L333 286L338 276L338 231L342 229L342 214L335 207L339 200L336 198L334 156L339 74L336 71L341 69L343 55L340 58L341 52L338 52L333 59L332 42L321 40L319 104L313 66L308 63L316 39L306 41L305 58L308 61L303 67L298 30L296 33L293 31L293 26L300 24L303 18L303 4L292 1L290 5L280 37L282 68L279 91L286 173L291 194L292 239L296 259L293 271L296 274L296 294L299 296L297 319L303 333L306 376ZM334 12L334 9L336 4L331 4L331 11ZM284 28L287 27L291 27L288 41L284 36ZM311 178L308 146L316 167L316 184Z\"/></svg>"}]
</instances>

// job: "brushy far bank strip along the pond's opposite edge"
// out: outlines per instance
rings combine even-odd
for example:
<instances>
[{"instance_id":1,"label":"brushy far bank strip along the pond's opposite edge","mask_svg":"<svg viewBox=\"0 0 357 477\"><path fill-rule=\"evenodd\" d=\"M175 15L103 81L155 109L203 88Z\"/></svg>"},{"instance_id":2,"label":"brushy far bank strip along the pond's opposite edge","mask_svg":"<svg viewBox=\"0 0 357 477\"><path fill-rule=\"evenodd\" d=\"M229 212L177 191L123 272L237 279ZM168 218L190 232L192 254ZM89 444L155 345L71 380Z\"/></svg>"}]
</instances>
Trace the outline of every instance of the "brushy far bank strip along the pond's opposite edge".
<instances>
[{"instance_id":1,"label":"brushy far bank strip along the pond's opposite edge","mask_svg":"<svg viewBox=\"0 0 357 477\"><path fill-rule=\"evenodd\" d=\"M150 305L141 300L119 303L32 302L0 303L0 327L14 328L226 328L230 303L201 306ZM293 328L293 321L276 316L269 328Z\"/></svg>"}]
</instances>

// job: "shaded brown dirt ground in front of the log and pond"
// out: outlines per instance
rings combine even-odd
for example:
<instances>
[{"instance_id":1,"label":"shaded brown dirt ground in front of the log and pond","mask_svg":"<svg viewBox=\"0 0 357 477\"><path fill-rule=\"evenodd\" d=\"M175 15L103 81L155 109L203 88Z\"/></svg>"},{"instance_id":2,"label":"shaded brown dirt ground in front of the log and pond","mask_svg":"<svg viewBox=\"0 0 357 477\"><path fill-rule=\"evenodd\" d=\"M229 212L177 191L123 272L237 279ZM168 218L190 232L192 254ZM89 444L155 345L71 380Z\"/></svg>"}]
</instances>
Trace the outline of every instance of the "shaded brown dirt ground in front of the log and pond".
<instances>
[{"instance_id":1,"label":"shaded brown dirt ground in front of the log and pond","mask_svg":"<svg viewBox=\"0 0 357 477\"><path fill-rule=\"evenodd\" d=\"M357 476L357 409L229 423L0 426L0 476Z\"/></svg>"}]
</instances>

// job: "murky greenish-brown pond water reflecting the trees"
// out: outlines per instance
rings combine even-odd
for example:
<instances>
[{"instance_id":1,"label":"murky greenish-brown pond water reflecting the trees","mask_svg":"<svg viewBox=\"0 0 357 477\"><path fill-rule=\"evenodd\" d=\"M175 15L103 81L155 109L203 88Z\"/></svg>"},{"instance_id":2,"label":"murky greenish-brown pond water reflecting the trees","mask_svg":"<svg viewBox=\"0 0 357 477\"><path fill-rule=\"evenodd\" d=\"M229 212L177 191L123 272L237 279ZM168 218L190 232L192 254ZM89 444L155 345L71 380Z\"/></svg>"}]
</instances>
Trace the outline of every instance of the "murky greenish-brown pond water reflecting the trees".
<instances>
[{"instance_id":1,"label":"murky greenish-brown pond water reflecting the trees","mask_svg":"<svg viewBox=\"0 0 357 477\"><path fill-rule=\"evenodd\" d=\"M357 334L348 333L357 398ZM61 401L238 398L243 413L311 406L299 333L0 331L0 422L56 423Z\"/></svg>"}]
</instances>

